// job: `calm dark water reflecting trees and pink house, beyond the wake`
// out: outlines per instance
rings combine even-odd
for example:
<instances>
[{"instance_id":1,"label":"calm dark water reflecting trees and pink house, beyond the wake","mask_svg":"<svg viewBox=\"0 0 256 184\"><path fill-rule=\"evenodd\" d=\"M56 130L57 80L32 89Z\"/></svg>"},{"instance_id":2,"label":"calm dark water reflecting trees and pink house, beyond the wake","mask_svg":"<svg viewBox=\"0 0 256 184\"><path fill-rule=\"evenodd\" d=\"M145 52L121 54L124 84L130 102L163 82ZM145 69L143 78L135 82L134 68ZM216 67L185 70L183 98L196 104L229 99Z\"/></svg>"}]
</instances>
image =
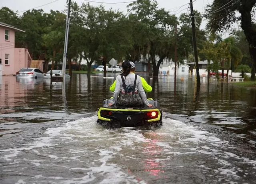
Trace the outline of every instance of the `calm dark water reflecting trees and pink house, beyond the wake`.
<instances>
[{"instance_id":1,"label":"calm dark water reflecting trees and pink house, beyond the wake","mask_svg":"<svg viewBox=\"0 0 256 184\"><path fill-rule=\"evenodd\" d=\"M256 90L232 84L202 83L196 87L196 79L188 76L151 78L140 74L152 86L148 98L158 100L164 113L187 117L188 121L246 131L255 131ZM70 115L96 112L104 99L113 93L109 87L116 75L74 74L65 82L65 93L61 82L25 79L13 76L0 78L1 121L43 122L66 118ZM114 78L113 78L114 77ZM3 116L4 115L4 116ZM6 121L8 119L8 121Z\"/></svg>"}]
</instances>

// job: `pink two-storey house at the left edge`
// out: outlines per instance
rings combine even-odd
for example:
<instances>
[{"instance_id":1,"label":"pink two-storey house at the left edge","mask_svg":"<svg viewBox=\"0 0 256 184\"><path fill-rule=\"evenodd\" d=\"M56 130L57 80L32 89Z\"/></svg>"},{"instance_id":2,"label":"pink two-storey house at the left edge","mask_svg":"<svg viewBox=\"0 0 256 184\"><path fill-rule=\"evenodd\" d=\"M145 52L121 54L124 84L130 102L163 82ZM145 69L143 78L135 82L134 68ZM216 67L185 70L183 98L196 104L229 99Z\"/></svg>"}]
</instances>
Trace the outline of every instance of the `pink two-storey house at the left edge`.
<instances>
[{"instance_id":1,"label":"pink two-storey house at the left edge","mask_svg":"<svg viewBox=\"0 0 256 184\"><path fill-rule=\"evenodd\" d=\"M16 75L22 67L30 67L28 49L15 48L15 32L24 32L14 26L0 22L0 76Z\"/></svg>"}]
</instances>

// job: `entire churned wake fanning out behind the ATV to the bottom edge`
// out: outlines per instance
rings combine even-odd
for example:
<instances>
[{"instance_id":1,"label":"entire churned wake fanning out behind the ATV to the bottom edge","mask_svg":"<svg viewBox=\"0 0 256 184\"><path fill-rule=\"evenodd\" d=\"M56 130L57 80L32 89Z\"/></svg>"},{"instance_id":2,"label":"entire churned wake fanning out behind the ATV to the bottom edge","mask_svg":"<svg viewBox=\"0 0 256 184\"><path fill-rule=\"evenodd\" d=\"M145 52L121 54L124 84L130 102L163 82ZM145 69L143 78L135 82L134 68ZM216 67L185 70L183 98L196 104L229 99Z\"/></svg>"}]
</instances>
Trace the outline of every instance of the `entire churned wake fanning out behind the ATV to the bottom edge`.
<instances>
[{"instance_id":1,"label":"entire churned wake fanning out behind the ATV to the bottom edge","mask_svg":"<svg viewBox=\"0 0 256 184\"><path fill-rule=\"evenodd\" d=\"M154 131L104 129L96 120L92 116L59 122L38 133L24 131L19 144L0 150L0 181L141 184L256 179L255 159L202 127L166 118Z\"/></svg>"}]
</instances>

